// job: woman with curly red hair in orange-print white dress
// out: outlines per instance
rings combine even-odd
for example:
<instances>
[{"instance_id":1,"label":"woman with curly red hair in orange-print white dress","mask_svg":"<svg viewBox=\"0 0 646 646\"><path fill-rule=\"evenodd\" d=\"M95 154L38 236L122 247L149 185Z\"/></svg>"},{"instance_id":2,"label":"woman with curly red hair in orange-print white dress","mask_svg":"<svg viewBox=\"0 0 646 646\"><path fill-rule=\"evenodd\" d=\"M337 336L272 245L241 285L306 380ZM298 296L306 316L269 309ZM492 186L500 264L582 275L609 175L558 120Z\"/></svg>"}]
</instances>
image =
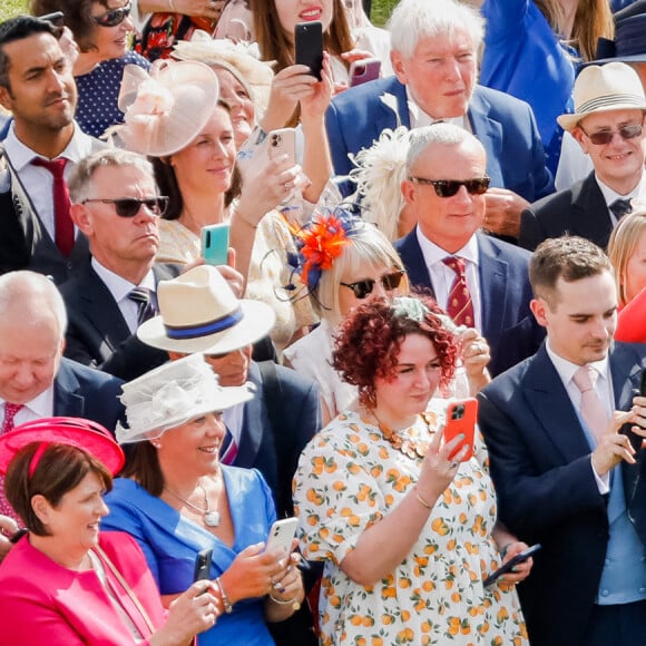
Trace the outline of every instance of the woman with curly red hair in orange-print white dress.
<instances>
[{"instance_id":1,"label":"woman with curly red hair in orange-print white dress","mask_svg":"<svg viewBox=\"0 0 646 646\"><path fill-rule=\"evenodd\" d=\"M359 389L303 451L294 501L303 556L323 560L323 644L527 644L513 585L483 579L526 549L496 523L478 439L427 412L453 376L453 335L432 300L370 300L342 323L334 368Z\"/></svg>"}]
</instances>

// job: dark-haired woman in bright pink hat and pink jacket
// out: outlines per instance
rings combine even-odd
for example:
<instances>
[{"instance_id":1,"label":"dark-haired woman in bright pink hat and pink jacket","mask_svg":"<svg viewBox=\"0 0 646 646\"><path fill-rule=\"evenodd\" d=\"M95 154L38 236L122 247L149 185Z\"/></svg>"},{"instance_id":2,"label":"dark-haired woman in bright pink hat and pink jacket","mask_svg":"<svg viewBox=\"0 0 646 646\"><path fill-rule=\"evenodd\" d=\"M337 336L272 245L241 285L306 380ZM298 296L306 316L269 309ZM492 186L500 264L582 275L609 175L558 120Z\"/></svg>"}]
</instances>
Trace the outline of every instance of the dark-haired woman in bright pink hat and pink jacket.
<instances>
[{"instance_id":1,"label":"dark-haired woman in bright pink hat and pink jacket","mask_svg":"<svg viewBox=\"0 0 646 646\"><path fill-rule=\"evenodd\" d=\"M146 559L121 532L100 532L104 493L124 453L95 422L45 418L0 438L7 498L27 536L0 568L0 645L188 645L221 599L197 581L164 610Z\"/></svg>"}]
</instances>

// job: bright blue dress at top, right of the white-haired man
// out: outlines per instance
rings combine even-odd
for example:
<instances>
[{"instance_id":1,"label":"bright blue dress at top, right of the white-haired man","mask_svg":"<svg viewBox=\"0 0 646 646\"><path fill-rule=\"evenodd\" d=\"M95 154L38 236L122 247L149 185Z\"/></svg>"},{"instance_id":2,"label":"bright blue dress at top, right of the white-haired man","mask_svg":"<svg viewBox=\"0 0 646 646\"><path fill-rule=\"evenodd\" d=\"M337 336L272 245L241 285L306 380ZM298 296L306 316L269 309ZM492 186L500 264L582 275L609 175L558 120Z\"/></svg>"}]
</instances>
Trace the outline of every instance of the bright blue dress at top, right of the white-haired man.
<instances>
[{"instance_id":1,"label":"bright blue dress at top, right of the white-haired man","mask_svg":"<svg viewBox=\"0 0 646 646\"><path fill-rule=\"evenodd\" d=\"M556 118L572 111L576 52L531 0L484 0L481 12L487 30L480 84L531 106L554 175L562 139Z\"/></svg>"}]
</instances>

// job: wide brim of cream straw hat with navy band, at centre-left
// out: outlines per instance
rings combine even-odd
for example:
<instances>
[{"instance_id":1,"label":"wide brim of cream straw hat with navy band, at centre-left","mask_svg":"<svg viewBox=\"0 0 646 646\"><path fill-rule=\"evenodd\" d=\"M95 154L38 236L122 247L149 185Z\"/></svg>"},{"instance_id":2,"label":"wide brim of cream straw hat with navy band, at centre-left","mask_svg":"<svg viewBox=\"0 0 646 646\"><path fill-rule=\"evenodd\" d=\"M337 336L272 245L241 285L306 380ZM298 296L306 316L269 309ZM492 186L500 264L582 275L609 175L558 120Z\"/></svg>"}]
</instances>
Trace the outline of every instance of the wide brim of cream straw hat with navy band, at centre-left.
<instances>
[{"instance_id":1,"label":"wide brim of cream straw hat with navy band, at centre-left","mask_svg":"<svg viewBox=\"0 0 646 646\"><path fill-rule=\"evenodd\" d=\"M146 345L170 352L227 354L265 336L276 321L273 309L266 303L243 300L239 301L239 306L243 312L242 320L224 332L196 339L169 339L164 326L164 317L155 316L138 327L137 336Z\"/></svg>"}]
</instances>

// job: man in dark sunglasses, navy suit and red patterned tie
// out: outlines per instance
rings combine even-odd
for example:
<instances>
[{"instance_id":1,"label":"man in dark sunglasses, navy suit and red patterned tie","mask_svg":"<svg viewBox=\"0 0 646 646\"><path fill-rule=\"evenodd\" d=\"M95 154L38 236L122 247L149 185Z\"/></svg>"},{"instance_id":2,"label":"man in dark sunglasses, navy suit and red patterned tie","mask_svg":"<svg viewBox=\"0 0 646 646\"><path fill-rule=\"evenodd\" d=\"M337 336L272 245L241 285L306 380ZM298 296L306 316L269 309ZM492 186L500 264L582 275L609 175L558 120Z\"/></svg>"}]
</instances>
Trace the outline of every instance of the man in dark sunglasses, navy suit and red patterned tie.
<instances>
[{"instance_id":1,"label":"man in dark sunglasses, navy suit and red patterned tie","mask_svg":"<svg viewBox=\"0 0 646 646\"><path fill-rule=\"evenodd\" d=\"M529 253L479 231L489 186L482 144L451 124L419 128L407 176L402 194L418 224L395 248L411 284L487 339L492 375L531 356L544 332L529 310Z\"/></svg>"}]
</instances>

